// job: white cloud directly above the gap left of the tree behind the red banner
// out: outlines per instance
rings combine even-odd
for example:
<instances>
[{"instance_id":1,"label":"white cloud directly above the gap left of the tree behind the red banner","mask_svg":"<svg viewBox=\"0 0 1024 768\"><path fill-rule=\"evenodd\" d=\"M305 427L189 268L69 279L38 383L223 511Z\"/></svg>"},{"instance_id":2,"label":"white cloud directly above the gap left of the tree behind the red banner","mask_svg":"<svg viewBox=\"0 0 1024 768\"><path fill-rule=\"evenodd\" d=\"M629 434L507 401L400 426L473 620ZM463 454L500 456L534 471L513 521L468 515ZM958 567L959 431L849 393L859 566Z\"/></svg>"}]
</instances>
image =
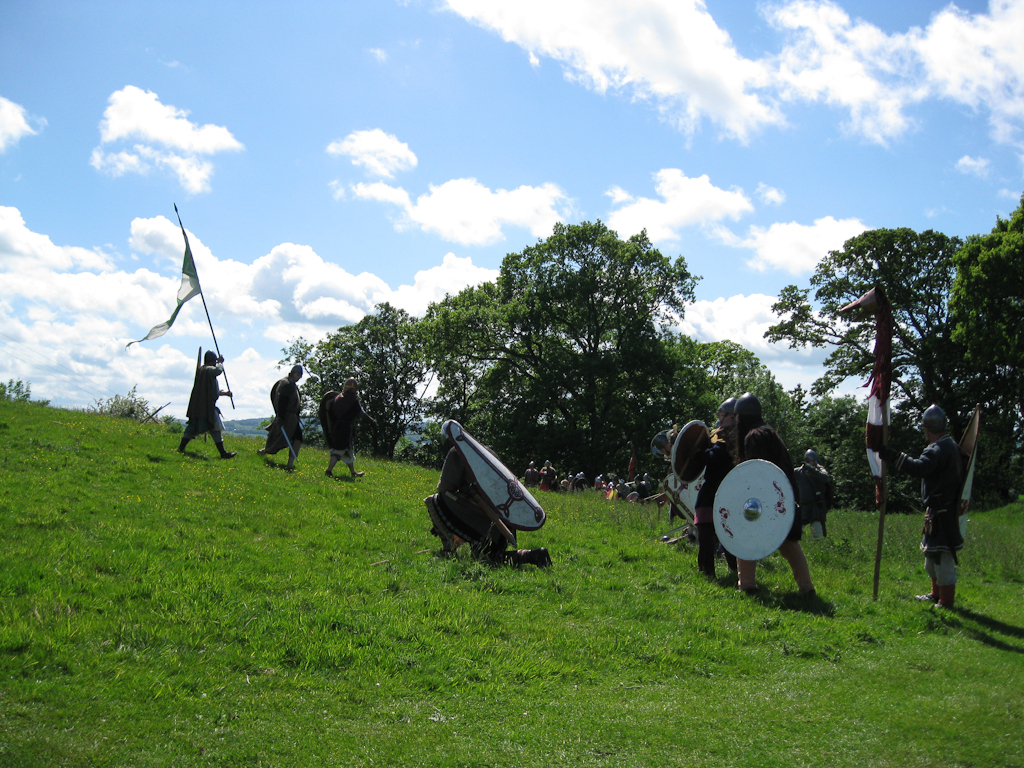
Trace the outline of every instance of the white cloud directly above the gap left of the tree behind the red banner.
<instances>
[{"instance_id":1,"label":"white cloud directly above the gap left of the tree behind the red banner","mask_svg":"<svg viewBox=\"0 0 1024 768\"><path fill-rule=\"evenodd\" d=\"M824 216L810 226L796 221L776 222L767 229L752 226L746 238L737 238L724 228L718 234L727 245L756 252L748 266L761 272L782 269L800 275L813 271L828 251L841 249L846 241L866 228L859 219Z\"/></svg>"}]
</instances>

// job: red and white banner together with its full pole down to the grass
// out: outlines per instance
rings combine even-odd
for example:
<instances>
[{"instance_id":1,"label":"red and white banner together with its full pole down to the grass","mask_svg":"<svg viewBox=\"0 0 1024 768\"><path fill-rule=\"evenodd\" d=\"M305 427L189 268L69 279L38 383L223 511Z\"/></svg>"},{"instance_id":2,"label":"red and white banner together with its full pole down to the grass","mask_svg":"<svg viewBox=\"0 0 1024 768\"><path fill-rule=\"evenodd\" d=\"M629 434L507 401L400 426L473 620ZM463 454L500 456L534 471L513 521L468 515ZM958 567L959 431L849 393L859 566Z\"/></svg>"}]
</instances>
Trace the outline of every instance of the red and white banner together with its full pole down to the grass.
<instances>
[{"instance_id":1,"label":"red and white banner together with its full pole down to the grass","mask_svg":"<svg viewBox=\"0 0 1024 768\"><path fill-rule=\"evenodd\" d=\"M892 338L893 310L882 286L876 286L856 301L840 309L840 312L860 310L867 316L874 316L874 367L864 386L870 386L867 396L867 426L864 442L867 447L867 463L874 476L874 503L879 508L879 541L874 550L874 591L872 599L879 599L879 575L882 570L882 543L886 528L886 504L888 483L886 465L878 450L889 441L889 394L892 389Z\"/></svg>"}]
</instances>

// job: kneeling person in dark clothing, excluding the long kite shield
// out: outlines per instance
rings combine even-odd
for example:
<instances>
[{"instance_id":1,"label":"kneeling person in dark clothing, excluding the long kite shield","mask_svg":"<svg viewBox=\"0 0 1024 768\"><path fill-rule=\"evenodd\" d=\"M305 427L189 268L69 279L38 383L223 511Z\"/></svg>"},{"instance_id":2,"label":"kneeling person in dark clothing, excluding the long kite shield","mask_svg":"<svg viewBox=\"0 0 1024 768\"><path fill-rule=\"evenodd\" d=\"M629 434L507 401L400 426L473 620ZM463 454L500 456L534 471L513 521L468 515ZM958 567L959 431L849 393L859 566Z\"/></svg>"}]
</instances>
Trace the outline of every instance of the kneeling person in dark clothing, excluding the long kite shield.
<instances>
[{"instance_id":1,"label":"kneeling person in dark clothing, excluding the long kite shield","mask_svg":"<svg viewBox=\"0 0 1024 768\"><path fill-rule=\"evenodd\" d=\"M451 442L449 442L452 445ZM494 565L551 565L544 547L506 552L508 541L477 500L476 487L455 445L449 449L437 480L437 493L423 500L430 516L430 532L441 540L441 552L450 555L469 543L473 556ZM509 529L513 542L516 531Z\"/></svg>"}]
</instances>

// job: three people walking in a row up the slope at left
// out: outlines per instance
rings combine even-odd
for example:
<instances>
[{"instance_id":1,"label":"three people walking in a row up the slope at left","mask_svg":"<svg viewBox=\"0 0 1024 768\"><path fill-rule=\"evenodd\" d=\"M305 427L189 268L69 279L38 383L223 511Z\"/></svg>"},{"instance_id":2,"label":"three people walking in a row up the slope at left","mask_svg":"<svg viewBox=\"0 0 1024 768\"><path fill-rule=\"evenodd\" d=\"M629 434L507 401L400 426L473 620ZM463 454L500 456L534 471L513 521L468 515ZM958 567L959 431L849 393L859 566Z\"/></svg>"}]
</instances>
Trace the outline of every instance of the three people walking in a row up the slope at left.
<instances>
[{"instance_id":1,"label":"three people walking in a row up the slope at left","mask_svg":"<svg viewBox=\"0 0 1024 768\"><path fill-rule=\"evenodd\" d=\"M217 408L218 398L232 396L230 390L220 389L217 383L217 378L224 373L223 364L223 356L209 349L203 357L203 365L196 371L186 412L188 422L178 444L178 453L185 453L190 440L209 433L221 459L232 459L238 455L224 447L224 423L220 409ZM287 470L295 469L295 461L302 449L302 400L298 382L303 373L302 366L294 366L285 378L270 387L270 404L274 416L267 427L266 444L256 452L260 456L273 456L287 449ZM325 394L321 399L318 416L324 439L330 451L325 474L336 477L333 470L340 461L348 467L351 477L362 477L364 472L355 471L354 427L358 419L366 417L373 421L373 417L366 412L359 400L358 382L354 378L348 378L341 392L331 391Z\"/></svg>"}]
</instances>

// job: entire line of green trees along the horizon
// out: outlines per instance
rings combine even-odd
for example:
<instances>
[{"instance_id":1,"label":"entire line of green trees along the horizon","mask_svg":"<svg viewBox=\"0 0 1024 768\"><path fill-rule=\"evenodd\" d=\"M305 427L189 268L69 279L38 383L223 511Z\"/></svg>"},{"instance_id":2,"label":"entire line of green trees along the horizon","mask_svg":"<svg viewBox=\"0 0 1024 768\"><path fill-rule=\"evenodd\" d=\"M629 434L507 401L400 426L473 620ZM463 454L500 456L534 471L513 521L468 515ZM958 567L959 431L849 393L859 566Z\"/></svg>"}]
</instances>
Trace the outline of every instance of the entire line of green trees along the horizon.
<instances>
[{"instance_id":1,"label":"entire line of green trees along the horizon","mask_svg":"<svg viewBox=\"0 0 1024 768\"><path fill-rule=\"evenodd\" d=\"M625 474L667 466L649 450L673 423L714 420L744 391L795 461L814 447L836 481L837 504L873 507L864 457L866 406L835 387L866 380L873 325L839 308L882 285L893 304L891 441L924 447L921 412L938 402L958 438L983 410L976 503L1002 503L1019 487L1024 444L1024 197L1010 219L966 241L928 230L876 229L818 263L810 285L791 285L766 337L831 349L810 391L786 391L757 355L729 341L699 343L674 330L699 278L645 232L620 239L600 221L556 224L551 237L511 253L493 283L467 288L413 317L379 304L317 343L297 339L282 365L302 365L307 439L321 396L348 376L376 422L356 446L375 456L439 466L439 425L456 419L511 468L550 459L562 472ZM890 509L920 499L895 476Z\"/></svg>"}]
</instances>

